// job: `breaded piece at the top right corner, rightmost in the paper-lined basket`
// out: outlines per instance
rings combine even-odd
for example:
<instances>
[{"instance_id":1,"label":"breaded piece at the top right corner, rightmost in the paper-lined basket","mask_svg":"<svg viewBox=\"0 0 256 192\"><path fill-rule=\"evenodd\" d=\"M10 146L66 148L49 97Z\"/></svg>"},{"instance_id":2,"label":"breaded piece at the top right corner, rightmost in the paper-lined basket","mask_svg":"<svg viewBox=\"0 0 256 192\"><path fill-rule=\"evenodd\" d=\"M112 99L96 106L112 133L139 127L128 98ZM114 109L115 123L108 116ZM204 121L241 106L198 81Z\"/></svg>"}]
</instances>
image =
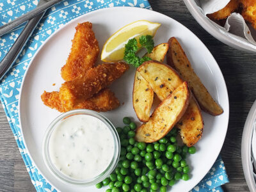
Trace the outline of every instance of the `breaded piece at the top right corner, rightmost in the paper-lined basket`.
<instances>
[{"instance_id":1,"label":"breaded piece at the top right corner, rightmost in the paper-lined basket","mask_svg":"<svg viewBox=\"0 0 256 192\"><path fill-rule=\"evenodd\" d=\"M245 20L252 23L254 29L256 29L256 0L243 0L242 15Z\"/></svg>"}]
</instances>

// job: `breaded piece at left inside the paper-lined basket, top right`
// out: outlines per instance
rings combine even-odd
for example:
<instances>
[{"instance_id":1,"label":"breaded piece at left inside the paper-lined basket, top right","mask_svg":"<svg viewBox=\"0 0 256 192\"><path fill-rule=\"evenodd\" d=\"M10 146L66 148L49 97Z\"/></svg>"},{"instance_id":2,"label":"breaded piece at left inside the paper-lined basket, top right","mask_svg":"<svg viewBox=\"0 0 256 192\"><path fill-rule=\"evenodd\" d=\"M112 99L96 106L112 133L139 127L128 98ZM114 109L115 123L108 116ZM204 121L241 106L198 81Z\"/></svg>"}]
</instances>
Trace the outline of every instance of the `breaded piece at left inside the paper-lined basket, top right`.
<instances>
[{"instance_id":1,"label":"breaded piece at left inside the paper-lined basket, top right","mask_svg":"<svg viewBox=\"0 0 256 192\"><path fill-rule=\"evenodd\" d=\"M239 8L239 0L230 0L225 8L218 12L208 14L207 16L212 20L226 19L231 13Z\"/></svg>"}]
</instances>

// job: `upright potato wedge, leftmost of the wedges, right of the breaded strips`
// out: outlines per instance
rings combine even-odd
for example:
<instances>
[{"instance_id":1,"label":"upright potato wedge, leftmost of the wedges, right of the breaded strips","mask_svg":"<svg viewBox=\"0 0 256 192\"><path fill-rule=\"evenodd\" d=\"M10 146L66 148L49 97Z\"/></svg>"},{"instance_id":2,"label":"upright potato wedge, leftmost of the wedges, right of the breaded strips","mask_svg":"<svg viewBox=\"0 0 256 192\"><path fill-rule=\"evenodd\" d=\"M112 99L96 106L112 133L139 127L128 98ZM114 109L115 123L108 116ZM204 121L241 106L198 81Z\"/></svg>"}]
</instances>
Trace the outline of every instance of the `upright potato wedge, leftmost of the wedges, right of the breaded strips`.
<instances>
[{"instance_id":1,"label":"upright potato wedge, leftmost of the wedges, right of the breaded strips","mask_svg":"<svg viewBox=\"0 0 256 192\"><path fill-rule=\"evenodd\" d=\"M134 76L132 104L141 122L148 122L150 109L154 100L154 92L149 83L136 71Z\"/></svg>"}]
</instances>

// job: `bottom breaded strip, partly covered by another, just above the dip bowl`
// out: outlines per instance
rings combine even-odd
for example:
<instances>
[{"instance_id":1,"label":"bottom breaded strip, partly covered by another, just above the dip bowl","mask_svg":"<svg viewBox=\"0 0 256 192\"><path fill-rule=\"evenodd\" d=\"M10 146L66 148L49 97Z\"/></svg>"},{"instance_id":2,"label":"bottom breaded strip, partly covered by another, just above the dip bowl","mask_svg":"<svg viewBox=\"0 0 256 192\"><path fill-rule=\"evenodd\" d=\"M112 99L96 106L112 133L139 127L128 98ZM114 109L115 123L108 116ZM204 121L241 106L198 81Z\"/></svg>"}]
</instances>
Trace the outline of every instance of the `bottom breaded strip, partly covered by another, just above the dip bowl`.
<instances>
[{"instance_id":1,"label":"bottom breaded strip, partly covered by another, just above the dip bowl","mask_svg":"<svg viewBox=\"0 0 256 192\"><path fill-rule=\"evenodd\" d=\"M87 100L81 100L74 108L63 108L60 100L59 92L44 92L41 95L41 99L45 106L52 109L56 109L61 113L70 111L72 109L91 109L93 111L104 112L118 108L120 105L118 99L115 97L115 93L111 92L109 88L101 90L99 93L93 95L93 97Z\"/></svg>"}]
</instances>

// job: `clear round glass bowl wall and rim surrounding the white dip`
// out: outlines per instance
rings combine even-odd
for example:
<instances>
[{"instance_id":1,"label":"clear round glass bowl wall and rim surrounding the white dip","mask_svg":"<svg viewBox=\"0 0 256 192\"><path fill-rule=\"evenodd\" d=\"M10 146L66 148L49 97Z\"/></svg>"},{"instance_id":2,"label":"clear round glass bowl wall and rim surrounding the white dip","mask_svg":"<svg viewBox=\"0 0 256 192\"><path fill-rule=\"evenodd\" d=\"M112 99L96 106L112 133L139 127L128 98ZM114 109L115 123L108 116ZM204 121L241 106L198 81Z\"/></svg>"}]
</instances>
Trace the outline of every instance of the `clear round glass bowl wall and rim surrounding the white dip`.
<instances>
[{"instance_id":1,"label":"clear round glass bowl wall and rim surrounding the white dip","mask_svg":"<svg viewBox=\"0 0 256 192\"><path fill-rule=\"evenodd\" d=\"M51 161L51 157L49 154L49 140L51 138L51 134L54 131L57 125L62 121L65 120L65 118L68 118L69 116L73 115L90 115L94 116L95 118L98 118L100 121L102 121L107 127L109 128L109 131L111 132L114 140L114 154L111 162L109 163L109 166L104 170L100 175L97 175L96 177L92 179L86 179L86 180L77 180L77 179L72 179L68 177L67 175L64 175L61 173L56 166ZM67 113L63 113L60 116L58 116L56 119L51 122L49 127L47 128L43 140L43 157L44 157L44 162L51 171L51 173L59 180L62 182L68 183L68 184L74 184L76 186L91 186L93 184L97 184L98 182L104 180L106 177L108 177L111 172L116 167L116 164L118 163L118 159L120 156L120 139L118 136L118 133L116 132L116 129L114 125L106 118L105 116L101 115L100 113L97 113L92 110L88 109L76 109L72 111L68 111Z\"/></svg>"}]
</instances>

